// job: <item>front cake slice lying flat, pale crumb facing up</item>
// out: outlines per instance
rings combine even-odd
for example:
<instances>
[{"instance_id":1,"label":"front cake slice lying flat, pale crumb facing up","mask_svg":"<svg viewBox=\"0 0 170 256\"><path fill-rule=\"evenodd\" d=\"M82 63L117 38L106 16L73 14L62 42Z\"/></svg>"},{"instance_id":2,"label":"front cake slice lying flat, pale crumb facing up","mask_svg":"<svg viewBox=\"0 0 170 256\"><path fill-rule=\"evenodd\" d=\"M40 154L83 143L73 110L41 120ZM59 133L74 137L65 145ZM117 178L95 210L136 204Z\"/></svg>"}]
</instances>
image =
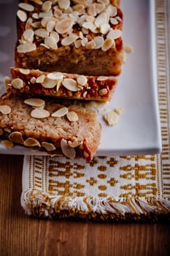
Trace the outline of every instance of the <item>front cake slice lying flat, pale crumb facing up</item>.
<instances>
[{"instance_id":1,"label":"front cake slice lying flat, pale crumb facing up","mask_svg":"<svg viewBox=\"0 0 170 256\"><path fill-rule=\"evenodd\" d=\"M101 138L96 110L9 93L0 98L0 130L13 143L87 161Z\"/></svg>"}]
</instances>

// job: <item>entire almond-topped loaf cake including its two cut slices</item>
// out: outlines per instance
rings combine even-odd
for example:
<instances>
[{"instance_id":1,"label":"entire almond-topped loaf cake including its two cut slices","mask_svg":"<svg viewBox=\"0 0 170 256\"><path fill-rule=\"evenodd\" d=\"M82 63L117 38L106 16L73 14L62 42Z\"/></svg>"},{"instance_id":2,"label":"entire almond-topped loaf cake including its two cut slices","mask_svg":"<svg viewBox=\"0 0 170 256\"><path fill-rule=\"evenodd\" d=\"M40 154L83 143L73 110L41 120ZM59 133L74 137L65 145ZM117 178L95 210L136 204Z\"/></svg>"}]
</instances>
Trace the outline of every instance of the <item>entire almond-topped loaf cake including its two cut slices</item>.
<instances>
[{"instance_id":1,"label":"entire almond-topped loaf cake including its two cut slices","mask_svg":"<svg viewBox=\"0 0 170 256\"><path fill-rule=\"evenodd\" d=\"M123 64L119 4L20 1L15 67L0 98L1 138L52 155L93 159L101 124L96 110L79 102L107 102L115 90Z\"/></svg>"}]
</instances>

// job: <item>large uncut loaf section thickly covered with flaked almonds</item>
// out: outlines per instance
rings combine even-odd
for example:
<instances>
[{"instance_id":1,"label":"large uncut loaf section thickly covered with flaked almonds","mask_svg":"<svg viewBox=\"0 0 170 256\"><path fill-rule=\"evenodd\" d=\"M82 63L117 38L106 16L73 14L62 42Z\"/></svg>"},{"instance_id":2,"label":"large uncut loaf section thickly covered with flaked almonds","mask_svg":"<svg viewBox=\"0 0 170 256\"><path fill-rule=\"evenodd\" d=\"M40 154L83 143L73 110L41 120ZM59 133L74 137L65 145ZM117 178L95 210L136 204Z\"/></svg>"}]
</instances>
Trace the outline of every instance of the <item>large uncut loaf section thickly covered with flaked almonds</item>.
<instances>
[{"instance_id":1,"label":"large uncut loaf section thickly covered with flaked almonds","mask_svg":"<svg viewBox=\"0 0 170 256\"><path fill-rule=\"evenodd\" d=\"M16 67L120 75L123 14L117 1L25 0L17 17Z\"/></svg>"}]
</instances>

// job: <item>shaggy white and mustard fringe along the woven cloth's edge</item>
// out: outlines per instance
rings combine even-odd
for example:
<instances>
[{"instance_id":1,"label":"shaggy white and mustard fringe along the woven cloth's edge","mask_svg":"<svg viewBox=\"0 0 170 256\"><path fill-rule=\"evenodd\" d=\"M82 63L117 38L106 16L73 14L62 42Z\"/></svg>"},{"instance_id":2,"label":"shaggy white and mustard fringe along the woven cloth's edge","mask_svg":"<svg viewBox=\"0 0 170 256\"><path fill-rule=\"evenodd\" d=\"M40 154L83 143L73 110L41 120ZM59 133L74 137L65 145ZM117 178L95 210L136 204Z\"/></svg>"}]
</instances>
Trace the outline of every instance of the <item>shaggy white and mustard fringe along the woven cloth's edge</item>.
<instances>
[{"instance_id":1,"label":"shaggy white and mustard fringe along the woven cloth's edge","mask_svg":"<svg viewBox=\"0 0 170 256\"><path fill-rule=\"evenodd\" d=\"M112 197L64 197L53 196L36 189L22 192L21 206L28 216L41 218L84 219L157 219L158 216L170 217L170 201L158 198L141 200L131 197L126 200L116 200ZM128 217L128 218L127 218Z\"/></svg>"}]
</instances>

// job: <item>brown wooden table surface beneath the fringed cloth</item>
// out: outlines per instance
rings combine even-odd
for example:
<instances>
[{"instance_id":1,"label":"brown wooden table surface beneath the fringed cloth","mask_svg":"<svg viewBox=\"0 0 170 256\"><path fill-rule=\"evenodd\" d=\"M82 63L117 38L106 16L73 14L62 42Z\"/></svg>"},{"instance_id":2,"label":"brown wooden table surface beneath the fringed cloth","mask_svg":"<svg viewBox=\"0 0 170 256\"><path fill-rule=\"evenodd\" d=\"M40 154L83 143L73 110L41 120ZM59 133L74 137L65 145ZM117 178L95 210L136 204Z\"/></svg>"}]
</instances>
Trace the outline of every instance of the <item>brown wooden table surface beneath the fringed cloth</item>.
<instances>
[{"instance_id":1,"label":"brown wooden table surface beneath the fringed cloth","mask_svg":"<svg viewBox=\"0 0 170 256\"><path fill-rule=\"evenodd\" d=\"M0 255L170 255L170 222L103 223L27 217L22 156L0 155Z\"/></svg>"}]
</instances>

